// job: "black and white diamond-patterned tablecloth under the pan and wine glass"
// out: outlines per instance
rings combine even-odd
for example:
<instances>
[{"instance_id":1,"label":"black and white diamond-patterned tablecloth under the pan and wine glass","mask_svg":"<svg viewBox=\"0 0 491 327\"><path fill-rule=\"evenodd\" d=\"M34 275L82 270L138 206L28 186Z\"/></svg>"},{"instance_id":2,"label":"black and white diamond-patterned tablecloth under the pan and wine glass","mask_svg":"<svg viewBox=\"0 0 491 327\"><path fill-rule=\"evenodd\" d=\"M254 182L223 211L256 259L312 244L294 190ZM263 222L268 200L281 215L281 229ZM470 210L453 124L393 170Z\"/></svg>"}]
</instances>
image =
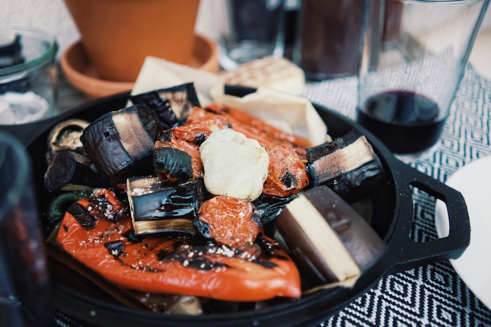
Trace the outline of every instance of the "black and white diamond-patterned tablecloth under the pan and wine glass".
<instances>
[{"instance_id":1,"label":"black and white diamond-patterned tablecloth under the pan and wine glass","mask_svg":"<svg viewBox=\"0 0 491 327\"><path fill-rule=\"evenodd\" d=\"M303 96L355 118L353 77L310 83ZM491 81L468 65L438 149L411 166L445 182L460 167L490 155L490 108ZM435 199L416 190L414 202L413 238L419 242L436 239ZM320 326L484 327L491 326L491 311L467 288L449 261L443 261L383 277Z\"/></svg>"}]
</instances>

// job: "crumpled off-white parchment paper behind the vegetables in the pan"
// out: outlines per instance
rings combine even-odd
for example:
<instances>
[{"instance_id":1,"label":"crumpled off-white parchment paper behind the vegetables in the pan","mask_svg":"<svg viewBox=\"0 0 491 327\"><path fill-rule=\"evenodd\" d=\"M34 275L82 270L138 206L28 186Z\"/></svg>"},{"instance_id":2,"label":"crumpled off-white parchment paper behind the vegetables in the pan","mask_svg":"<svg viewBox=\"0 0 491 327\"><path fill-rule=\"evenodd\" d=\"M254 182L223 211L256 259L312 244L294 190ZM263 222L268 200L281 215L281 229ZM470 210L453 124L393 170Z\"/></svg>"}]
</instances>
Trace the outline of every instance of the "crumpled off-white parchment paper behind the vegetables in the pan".
<instances>
[{"instance_id":1,"label":"crumpled off-white parchment paper behind the vegetables in the pan","mask_svg":"<svg viewBox=\"0 0 491 327\"><path fill-rule=\"evenodd\" d=\"M193 82L202 106L212 102L229 105L251 113L285 132L303 137L313 145L326 142L327 127L308 99L262 87L243 98L225 95L223 77L219 74L156 57L146 57L131 94L188 82Z\"/></svg>"}]
</instances>

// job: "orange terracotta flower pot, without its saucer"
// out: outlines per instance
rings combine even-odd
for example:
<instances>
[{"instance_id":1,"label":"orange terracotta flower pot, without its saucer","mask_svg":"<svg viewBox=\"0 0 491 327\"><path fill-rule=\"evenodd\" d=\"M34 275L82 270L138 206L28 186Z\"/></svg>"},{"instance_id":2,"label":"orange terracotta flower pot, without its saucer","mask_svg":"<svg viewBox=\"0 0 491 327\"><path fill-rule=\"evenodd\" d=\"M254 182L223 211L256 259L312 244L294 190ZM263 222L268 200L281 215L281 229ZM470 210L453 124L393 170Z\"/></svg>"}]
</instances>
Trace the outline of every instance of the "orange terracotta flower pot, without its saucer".
<instances>
[{"instance_id":1,"label":"orange terracotta flower pot, without its saucer","mask_svg":"<svg viewBox=\"0 0 491 327\"><path fill-rule=\"evenodd\" d=\"M147 55L188 64L199 0L65 0L99 76L135 81Z\"/></svg>"}]
</instances>

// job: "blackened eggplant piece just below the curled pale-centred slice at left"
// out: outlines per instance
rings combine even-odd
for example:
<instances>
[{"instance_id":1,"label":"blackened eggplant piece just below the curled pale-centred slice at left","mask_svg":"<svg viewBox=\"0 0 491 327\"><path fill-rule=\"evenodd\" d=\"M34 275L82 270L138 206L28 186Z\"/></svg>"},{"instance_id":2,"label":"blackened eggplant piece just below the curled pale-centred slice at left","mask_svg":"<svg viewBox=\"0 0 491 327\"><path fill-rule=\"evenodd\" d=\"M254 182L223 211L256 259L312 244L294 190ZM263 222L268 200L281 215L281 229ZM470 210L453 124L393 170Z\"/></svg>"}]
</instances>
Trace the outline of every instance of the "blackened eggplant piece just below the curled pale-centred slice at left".
<instances>
[{"instance_id":1,"label":"blackened eggplant piece just below the curled pale-centred slice at left","mask_svg":"<svg viewBox=\"0 0 491 327\"><path fill-rule=\"evenodd\" d=\"M90 158L70 150L56 151L44 174L48 191L92 190L108 182L93 168Z\"/></svg>"}]
</instances>

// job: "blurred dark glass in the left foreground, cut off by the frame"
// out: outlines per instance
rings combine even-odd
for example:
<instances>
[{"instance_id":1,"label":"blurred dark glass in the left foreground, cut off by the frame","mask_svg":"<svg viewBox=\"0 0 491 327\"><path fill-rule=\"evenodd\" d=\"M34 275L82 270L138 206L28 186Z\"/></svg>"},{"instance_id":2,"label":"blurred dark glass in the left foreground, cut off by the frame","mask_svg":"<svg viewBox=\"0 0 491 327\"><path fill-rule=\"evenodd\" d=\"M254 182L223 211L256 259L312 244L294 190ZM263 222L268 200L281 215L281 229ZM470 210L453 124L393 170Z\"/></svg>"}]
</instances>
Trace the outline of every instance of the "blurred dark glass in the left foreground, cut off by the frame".
<instances>
[{"instance_id":1,"label":"blurred dark glass in the left foreground, cut off by the frame","mask_svg":"<svg viewBox=\"0 0 491 327\"><path fill-rule=\"evenodd\" d=\"M0 131L0 326L55 324L31 174L22 144Z\"/></svg>"}]
</instances>

